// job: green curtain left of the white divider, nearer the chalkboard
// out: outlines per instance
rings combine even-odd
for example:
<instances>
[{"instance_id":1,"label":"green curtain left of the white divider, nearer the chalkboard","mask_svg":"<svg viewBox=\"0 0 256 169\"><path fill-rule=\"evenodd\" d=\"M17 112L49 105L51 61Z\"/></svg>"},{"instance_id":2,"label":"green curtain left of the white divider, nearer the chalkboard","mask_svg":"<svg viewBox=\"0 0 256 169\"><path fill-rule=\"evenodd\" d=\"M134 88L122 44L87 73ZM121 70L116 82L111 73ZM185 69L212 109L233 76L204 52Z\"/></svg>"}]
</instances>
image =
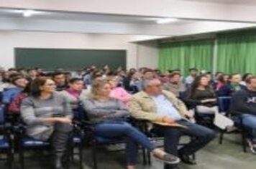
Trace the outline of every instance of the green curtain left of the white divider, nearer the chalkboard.
<instances>
[{"instance_id":1,"label":"green curtain left of the white divider, nearer the chalkboard","mask_svg":"<svg viewBox=\"0 0 256 169\"><path fill-rule=\"evenodd\" d=\"M180 69L183 75L192 67L212 71L213 51L214 40L211 39L160 44L159 68L162 72Z\"/></svg>"}]
</instances>

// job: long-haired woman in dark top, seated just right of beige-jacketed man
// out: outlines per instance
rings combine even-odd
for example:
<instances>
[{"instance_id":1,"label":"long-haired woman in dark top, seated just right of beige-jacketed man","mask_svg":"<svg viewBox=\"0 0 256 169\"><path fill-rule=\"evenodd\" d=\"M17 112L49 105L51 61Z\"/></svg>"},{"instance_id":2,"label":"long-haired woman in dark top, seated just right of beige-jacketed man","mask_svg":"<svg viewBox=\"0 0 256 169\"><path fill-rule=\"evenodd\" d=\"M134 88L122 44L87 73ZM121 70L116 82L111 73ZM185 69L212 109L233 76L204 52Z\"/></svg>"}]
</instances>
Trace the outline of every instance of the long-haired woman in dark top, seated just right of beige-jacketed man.
<instances>
[{"instance_id":1,"label":"long-haired woman in dark top, seated just right of beige-jacketed man","mask_svg":"<svg viewBox=\"0 0 256 169\"><path fill-rule=\"evenodd\" d=\"M199 113L214 114L217 110L217 98L214 90L211 90L209 78L200 75L191 84L186 100L188 105L196 106Z\"/></svg>"}]
</instances>

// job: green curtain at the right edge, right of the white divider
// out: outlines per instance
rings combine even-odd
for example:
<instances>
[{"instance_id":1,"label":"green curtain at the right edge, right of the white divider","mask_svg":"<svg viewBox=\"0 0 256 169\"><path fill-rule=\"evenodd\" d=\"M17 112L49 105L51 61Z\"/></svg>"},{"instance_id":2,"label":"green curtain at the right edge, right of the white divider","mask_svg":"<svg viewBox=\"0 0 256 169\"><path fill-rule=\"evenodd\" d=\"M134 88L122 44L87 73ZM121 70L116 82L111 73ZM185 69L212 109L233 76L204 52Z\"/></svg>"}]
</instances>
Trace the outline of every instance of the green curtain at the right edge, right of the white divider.
<instances>
[{"instance_id":1,"label":"green curtain at the right edge, right of the white divider","mask_svg":"<svg viewBox=\"0 0 256 169\"><path fill-rule=\"evenodd\" d=\"M227 74L256 72L256 32L219 34L217 70Z\"/></svg>"}]
</instances>

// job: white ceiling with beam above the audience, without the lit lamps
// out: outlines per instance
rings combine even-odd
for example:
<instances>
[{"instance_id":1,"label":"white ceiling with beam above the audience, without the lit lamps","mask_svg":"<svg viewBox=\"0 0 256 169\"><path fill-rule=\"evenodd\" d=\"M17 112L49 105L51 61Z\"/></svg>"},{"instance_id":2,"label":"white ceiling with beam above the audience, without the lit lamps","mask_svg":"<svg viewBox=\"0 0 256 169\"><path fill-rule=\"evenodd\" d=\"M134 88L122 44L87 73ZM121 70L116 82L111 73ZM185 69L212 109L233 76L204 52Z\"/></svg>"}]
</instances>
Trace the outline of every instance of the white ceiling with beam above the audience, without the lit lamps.
<instances>
[{"instance_id":1,"label":"white ceiling with beam above the audience, without the lit lamps","mask_svg":"<svg viewBox=\"0 0 256 169\"><path fill-rule=\"evenodd\" d=\"M0 30L162 37L256 26L256 6L229 5L233 2L256 4L256 0L140 0L140 3L137 0L109 0L108 3L106 0L73 0L72 3L62 0L61 4L59 0L49 3L0 1ZM22 16L25 9L37 9L38 12L25 18ZM156 23L157 19L167 17L179 20L169 24Z\"/></svg>"}]
</instances>

